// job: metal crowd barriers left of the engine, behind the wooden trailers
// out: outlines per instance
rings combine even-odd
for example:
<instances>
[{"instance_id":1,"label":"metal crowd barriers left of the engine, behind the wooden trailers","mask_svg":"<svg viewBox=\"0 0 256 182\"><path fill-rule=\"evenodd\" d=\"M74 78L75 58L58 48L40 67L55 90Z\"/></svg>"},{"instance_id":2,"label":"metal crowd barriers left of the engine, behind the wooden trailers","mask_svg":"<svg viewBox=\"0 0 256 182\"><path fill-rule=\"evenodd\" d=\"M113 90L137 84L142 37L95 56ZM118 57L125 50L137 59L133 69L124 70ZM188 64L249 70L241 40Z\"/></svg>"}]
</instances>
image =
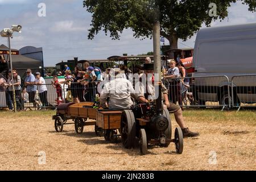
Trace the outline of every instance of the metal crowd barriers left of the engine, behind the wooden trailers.
<instances>
[{"instance_id":1,"label":"metal crowd barriers left of the engine, behind the wooden trailers","mask_svg":"<svg viewBox=\"0 0 256 182\"><path fill-rule=\"evenodd\" d=\"M95 83L84 86L81 83L72 82L71 85L61 84L56 88L52 84L36 86L37 89L34 92L26 92L26 89L15 90L17 110L55 109L61 103L73 102L74 100L94 102L97 93ZM0 107L13 109L13 92L11 89L2 89L0 92Z\"/></svg>"}]
</instances>

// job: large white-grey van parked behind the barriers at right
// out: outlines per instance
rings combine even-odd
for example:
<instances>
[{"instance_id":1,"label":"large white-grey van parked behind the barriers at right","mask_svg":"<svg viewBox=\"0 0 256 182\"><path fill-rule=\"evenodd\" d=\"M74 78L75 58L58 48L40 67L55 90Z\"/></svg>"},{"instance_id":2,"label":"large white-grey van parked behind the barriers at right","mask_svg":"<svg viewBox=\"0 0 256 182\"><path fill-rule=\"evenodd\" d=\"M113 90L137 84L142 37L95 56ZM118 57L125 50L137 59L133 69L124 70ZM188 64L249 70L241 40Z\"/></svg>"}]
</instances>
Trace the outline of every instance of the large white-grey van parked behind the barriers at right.
<instances>
[{"instance_id":1,"label":"large white-grey van parked behind the barriers at right","mask_svg":"<svg viewBox=\"0 0 256 182\"><path fill-rule=\"evenodd\" d=\"M256 76L232 77L256 74L256 23L225 27L202 28L196 37L193 76L226 75L225 77L195 79L197 100L219 101L235 105L256 102ZM228 97L230 88L230 97ZM231 103L231 104L232 104Z\"/></svg>"}]
</instances>

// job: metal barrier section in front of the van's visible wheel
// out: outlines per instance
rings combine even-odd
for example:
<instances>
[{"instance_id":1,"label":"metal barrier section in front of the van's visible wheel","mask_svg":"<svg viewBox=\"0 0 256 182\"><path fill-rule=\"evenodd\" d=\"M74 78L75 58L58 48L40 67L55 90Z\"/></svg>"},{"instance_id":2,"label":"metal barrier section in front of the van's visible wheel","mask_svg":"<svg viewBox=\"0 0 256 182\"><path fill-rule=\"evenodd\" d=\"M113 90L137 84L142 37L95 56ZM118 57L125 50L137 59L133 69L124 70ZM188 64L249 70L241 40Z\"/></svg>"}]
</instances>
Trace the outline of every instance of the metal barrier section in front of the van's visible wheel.
<instances>
[{"instance_id":1,"label":"metal barrier section in front of the van's visible wheel","mask_svg":"<svg viewBox=\"0 0 256 182\"><path fill-rule=\"evenodd\" d=\"M197 76L163 80L169 100L181 107L230 107L227 76Z\"/></svg>"}]
</instances>

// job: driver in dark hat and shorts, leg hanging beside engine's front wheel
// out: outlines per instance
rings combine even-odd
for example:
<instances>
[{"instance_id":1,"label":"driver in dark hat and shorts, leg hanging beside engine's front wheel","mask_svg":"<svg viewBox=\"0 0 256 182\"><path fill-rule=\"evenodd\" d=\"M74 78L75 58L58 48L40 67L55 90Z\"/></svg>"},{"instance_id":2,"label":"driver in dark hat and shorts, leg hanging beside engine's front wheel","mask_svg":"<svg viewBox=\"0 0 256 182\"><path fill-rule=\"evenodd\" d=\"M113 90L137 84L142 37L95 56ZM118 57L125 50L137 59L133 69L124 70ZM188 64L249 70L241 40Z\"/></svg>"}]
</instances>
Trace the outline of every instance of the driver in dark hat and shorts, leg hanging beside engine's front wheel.
<instances>
[{"instance_id":1,"label":"driver in dark hat and shorts, leg hanging beside engine's front wheel","mask_svg":"<svg viewBox=\"0 0 256 182\"><path fill-rule=\"evenodd\" d=\"M151 78L151 80L147 80L146 85L141 84L138 85L137 92L135 93L135 97L137 98L138 102L141 103L147 103L149 100L155 100L155 86L154 84L149 84L148 81L152 83L153 80L153 74L154 74L154 64L144 64L144 73ZM151 75L148 75L151 74ZM136 86L135 86L136 88ZM170 103L168 100L168 90L166 87L162 84L162 100L164 102L164 107L166 107L170 113L174 113L176 122L181 127L181 130L183 132L183 137L197 137L199 136L199 133L192 132L188 129L188 127L185 125L184 118L182 115L182 111L179 105Z\"/></svg>"}]
</instances>

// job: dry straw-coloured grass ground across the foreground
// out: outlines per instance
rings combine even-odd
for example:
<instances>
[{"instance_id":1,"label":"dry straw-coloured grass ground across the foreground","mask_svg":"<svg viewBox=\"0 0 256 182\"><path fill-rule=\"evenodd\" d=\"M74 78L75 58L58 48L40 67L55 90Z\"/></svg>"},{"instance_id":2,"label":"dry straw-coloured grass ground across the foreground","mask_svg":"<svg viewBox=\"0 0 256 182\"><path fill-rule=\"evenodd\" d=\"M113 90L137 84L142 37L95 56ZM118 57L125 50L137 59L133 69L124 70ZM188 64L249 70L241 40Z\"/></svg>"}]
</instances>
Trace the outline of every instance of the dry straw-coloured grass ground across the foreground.
<instances>
[{"instance_id":1,"label":"dry straw-coloured grass ground across the foreground","mask_svg":"<svg viewBox=\"0 0 256 182\"><path fill-rule=\"evenodd\" d=\"M189 129L200 137L154 147L148 155L96 137L93 126L76 134L74 125L56 133L55 111L0 111L1 170L255 170L255 111L184 111ZM72 121L71 121L72 122ZM172 131L177 126L172 115ZM46 154L46 164L40 151Z\"/></svg>"}]
</instances>

